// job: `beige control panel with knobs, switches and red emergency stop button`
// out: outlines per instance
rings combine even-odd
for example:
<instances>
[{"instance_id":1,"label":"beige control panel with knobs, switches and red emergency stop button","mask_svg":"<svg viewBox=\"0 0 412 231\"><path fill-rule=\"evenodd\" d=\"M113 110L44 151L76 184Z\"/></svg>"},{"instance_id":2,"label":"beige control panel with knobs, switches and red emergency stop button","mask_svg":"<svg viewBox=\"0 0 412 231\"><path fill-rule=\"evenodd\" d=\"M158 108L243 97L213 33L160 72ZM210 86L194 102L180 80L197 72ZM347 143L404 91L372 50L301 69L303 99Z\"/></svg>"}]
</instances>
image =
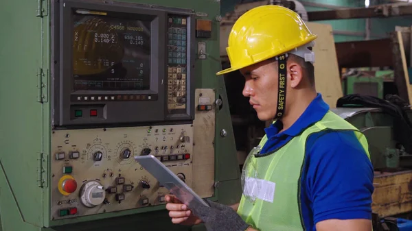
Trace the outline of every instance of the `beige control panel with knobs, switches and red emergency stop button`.
<instances>
[{"instance_id":1,"label":"beige control panel with knobs, switches and red emergency stop button","mask_svg":"<svg viewBox=\"0 0 412 231\"><path fill-rule=\"evenodd\" d=\"M134 156L156 156L192 186L193 125L56 130L52 219L156 206L168 189Z\"/></svg>"}]
</instances>

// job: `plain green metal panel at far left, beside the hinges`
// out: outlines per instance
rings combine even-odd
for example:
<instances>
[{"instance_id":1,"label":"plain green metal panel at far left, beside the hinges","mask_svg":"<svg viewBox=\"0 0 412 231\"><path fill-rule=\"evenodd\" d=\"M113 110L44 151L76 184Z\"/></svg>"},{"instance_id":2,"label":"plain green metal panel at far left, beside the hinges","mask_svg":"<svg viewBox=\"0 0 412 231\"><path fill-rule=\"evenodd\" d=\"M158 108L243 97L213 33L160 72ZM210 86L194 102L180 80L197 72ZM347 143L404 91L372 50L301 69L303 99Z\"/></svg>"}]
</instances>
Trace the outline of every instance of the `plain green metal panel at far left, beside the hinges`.
<instances>
[{"instance_id":1,"label":"plain green metal panel at far left, beside the hinges","mask_svg":"<svg viewBox=\"0 0 412 231\"><path fill-rule=\"evenodd\" d=\"M0 174L1 178L7 176L9 182L0 186L5 230L16 230L8 229L10 223L5 221L23 220L26 227L27 223L43 224L43 189L37 184L37 158L43 152L44 105L37 98L40 87L37 73L39 68L47 66L43 66L45 18L36 16L38 8L37 1L0 2L0 161L4 168ZM13 215L5 212L5 208L10 208ZM17 230L24 230L23 225L19 227Z\"/></svg>"}]
</instances>

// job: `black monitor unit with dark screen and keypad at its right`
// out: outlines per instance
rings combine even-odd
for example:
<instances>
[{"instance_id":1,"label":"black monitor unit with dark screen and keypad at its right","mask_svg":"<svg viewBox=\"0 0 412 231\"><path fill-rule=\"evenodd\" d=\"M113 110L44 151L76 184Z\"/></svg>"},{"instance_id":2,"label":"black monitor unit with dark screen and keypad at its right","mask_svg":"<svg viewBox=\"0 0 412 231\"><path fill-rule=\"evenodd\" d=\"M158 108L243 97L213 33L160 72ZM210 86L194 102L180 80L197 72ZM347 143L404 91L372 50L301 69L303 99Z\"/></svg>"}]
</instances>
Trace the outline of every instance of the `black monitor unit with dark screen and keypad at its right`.
<instances>
[{"instance_id":1,"label":"black monitor unit with dark screen and keypad at its right","mask_svg":"<svg viewBox=\"0 0 412 231\"><path fill-rule=\"evenodd\" d=\"M194 119L194 14L132 5L54 3L54 126Z\"/></svg>"}]
</instances>

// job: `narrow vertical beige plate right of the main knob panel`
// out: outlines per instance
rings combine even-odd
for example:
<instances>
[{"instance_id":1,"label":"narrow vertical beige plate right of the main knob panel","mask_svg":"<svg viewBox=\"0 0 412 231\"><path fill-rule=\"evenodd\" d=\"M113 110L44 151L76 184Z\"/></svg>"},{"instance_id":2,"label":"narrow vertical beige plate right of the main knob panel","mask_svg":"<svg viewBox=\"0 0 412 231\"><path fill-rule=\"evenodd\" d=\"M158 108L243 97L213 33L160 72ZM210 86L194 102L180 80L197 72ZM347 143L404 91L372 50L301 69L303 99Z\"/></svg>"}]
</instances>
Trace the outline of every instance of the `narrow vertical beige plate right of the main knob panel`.
<instances>
[{"instance_id":1,"label":"narrow vertical beige plate right of the main knob panel","mask_svg":"<svg viewBox=\"0 0 412 231\"><path fill-rule=\"evenodd\" d=\"M196 89L193 146L193 190L201 197L214 195L215 167L215 95L213 89ZM211 106L211 110L197 110L201 105Z\"/></svg>"}]
</instances>

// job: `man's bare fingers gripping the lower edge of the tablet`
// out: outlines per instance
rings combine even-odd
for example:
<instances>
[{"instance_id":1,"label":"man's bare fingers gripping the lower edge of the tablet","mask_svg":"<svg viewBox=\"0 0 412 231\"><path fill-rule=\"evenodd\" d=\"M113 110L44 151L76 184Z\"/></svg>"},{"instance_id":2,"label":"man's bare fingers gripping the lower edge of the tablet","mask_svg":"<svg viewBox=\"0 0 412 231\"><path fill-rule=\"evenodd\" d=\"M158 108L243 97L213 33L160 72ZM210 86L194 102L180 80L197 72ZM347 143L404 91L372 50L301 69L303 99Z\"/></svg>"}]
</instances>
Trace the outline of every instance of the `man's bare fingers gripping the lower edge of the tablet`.
<instances>
[{"instance_id":1,"label":"man's bare fingers gripping the lower edge of the tablet","mask_svg":"<svg viewBox=\"0 0 412 231\"><path fill-rule=\"evenodd\" d=\"M193 226L201 223L201 219L192 214L192 210L187 208L179 199L174 197L174 195L165 196L166 209L168 209L169 216L172 218L172 223L179 223L186 226Z\"/></svg>"}]
</instances>

